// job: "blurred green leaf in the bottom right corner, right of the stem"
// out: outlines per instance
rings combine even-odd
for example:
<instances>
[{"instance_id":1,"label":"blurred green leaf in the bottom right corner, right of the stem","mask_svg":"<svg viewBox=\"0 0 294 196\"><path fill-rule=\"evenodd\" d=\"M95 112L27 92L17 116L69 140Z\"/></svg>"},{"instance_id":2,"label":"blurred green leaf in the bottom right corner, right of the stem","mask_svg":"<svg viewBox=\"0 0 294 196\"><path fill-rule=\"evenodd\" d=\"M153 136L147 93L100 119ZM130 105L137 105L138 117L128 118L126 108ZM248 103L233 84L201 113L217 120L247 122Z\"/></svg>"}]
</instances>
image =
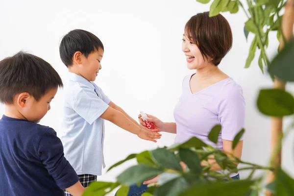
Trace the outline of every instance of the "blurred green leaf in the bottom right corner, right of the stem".
<instances>
[{"instance_id":1,"label":"blurred green leaf in the bottom right corner, right of the stem","mask_svg":"<svg viewBox=\"0 0 294 196\"><path fill-rule=\"evenodd\" d=\"M280 168L277 169L276 191L277 196L294 196L294 179Z\"/></svg>"}]
</instances>

